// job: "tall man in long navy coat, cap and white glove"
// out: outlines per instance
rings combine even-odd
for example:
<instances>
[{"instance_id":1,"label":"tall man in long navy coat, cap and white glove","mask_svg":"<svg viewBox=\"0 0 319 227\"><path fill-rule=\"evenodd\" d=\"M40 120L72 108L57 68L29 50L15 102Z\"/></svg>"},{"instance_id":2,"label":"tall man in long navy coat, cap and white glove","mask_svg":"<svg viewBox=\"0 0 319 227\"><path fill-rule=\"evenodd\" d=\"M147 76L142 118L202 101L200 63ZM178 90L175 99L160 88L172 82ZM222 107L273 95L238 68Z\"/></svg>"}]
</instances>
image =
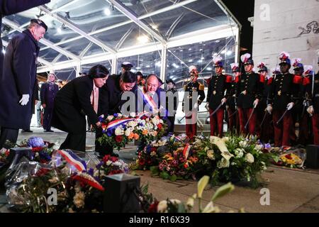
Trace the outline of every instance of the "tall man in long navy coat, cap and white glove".
<instances>
[{"instance_id":1,"label":"tall man in long navy coat, cap and white glove","mask_svg":"<svg viewBox=\"0 0 319 227\"><path fill-rule=\"evenodd\" d=\"M16 143L18 129L30 126L34 94L38 92L38 41L46 31L43 21L32 19L28 29L14 36L6 48L0 75L1 148L6 140Z\"/></svg>"}]
</instances>

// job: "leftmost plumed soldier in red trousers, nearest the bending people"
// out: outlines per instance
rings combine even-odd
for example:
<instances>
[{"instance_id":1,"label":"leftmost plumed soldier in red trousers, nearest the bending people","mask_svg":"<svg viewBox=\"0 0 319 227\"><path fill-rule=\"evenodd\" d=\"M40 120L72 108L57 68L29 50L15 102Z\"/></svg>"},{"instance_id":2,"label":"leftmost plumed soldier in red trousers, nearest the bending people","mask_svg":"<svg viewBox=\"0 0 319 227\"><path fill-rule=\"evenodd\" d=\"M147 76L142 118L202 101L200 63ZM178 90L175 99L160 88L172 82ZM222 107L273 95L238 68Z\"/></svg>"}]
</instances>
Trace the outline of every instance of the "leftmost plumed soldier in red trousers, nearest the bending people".
<instances>
[{"instance_id":1,"label":"leftmost plumed soldier in red trousers, nearest the bending people","mask_svg":"<svg viewBox=\"0 0 319 227\"><path fill-rule=\"evenodd\" d=\"M201 103L205 99L205 92L204 85L197 82L197 68L195 66L189 67L189 73L191 74L191 82L184 86L185 96L183 101L183 111L186 118L186 135L189 138L194 138L194 136L196 136L197 134L198 106L201 105ZM198 99L193 101L193 96L197 96ZM186 102L188 105L186 104Z\"/></svg>"}]
</instances>

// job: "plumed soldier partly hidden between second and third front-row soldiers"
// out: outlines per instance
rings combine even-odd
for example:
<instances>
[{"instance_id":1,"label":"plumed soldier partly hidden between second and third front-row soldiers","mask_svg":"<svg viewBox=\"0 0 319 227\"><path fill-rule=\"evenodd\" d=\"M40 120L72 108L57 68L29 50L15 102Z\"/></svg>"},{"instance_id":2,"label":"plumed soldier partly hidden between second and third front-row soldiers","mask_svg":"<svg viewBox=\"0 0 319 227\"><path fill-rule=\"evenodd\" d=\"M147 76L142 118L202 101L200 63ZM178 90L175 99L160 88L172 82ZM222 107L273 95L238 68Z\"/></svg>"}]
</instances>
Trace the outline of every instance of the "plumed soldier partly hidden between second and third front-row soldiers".
<instances>
[{"instance_id":1,"label":"plumed soldier partly hidden between second and third front-row soldiers","mask_svg":"<svg viewBox=\"0 0 319 227\"><path fill-rule=\"evenodd\" d=\"M240 121L237 113L237 98L236 98L236 83L239 81L241 72L238 63L230 64L234 75L233 82L230 87L230 96L226 102L226 109L228 114L228 131L230 133L240 132Z\"/></svg>"}]
</instances>

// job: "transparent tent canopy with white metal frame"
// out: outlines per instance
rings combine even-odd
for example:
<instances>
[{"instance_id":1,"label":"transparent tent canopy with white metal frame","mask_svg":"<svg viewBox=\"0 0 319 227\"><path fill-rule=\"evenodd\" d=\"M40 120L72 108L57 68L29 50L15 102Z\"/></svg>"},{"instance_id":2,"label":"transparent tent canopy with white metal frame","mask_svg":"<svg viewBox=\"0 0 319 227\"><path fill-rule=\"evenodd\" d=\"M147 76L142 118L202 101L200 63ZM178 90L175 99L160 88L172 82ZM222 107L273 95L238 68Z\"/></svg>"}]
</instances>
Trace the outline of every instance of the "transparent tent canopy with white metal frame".
<instances>
[{"instance_id":1,"label":"transparent tent canopy with white metal frame","mask_svg":"<svg viewBox=\"0 0 319 227\"><path fill-rule=\"evenodd\" d=\"M2 40L40 18L48 26L40 40L38 73L72 79L96 64L117 73L133 71L182 82L189 65L210 74L213 54L237 61L240 23L218 0L52 0L3 18Z\"/></svg>"}]
</instances>

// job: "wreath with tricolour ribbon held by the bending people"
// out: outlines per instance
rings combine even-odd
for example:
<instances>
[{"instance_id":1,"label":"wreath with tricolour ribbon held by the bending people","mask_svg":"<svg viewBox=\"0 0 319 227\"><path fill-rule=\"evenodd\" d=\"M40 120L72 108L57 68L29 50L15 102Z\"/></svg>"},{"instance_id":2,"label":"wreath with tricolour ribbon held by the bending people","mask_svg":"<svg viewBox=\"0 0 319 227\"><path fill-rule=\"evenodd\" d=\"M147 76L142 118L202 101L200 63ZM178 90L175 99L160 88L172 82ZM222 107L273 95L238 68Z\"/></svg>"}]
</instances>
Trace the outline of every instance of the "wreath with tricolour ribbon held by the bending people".
<instances>
[{"instance_id":1,"label":"wreath with tricolour ribbon held by the bending people","mask_svg":"<svg viewBox=\"0 0 319 227\"><path fill-rule=\"evenodd\" d=\"M102 123L103 136L99 143L108 144L120 150L133 140L152 141L164 134L164 122L159 116L135 113L130 116L113 114Z\"/></svg>"}]
</instances>

